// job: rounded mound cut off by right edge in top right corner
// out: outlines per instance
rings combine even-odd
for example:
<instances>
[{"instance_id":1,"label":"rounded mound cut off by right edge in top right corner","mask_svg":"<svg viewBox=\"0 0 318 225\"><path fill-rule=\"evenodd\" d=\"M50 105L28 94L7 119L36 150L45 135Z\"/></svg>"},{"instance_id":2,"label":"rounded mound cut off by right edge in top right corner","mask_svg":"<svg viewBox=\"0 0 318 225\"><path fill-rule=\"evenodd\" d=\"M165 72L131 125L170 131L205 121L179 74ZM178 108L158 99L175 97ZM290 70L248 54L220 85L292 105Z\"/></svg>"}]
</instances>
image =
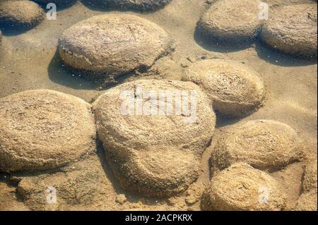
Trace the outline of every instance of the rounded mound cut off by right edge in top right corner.
<instances>
[{"instance_id":1,"label":"rounded mound cut off by right edge in top right corner","mask_svg":"<svg viewBox=\"0 0 318 225\"><path fill-rule=\"evenodd\" d=\"M261 31L261 39L285 54L317 58L317 4L276 8Z\"/></svg>"}]
</instances>

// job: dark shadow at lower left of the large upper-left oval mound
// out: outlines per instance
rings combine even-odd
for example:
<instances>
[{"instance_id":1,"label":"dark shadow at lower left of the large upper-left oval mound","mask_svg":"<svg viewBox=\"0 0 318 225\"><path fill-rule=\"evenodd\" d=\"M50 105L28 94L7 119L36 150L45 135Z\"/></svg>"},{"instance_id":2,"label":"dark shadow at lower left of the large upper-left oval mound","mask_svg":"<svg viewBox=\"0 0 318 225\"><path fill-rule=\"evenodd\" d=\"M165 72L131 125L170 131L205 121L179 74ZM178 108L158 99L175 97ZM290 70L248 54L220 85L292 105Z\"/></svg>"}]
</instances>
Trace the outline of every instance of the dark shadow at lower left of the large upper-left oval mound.
<instances>
[{"instance_id":1,"label":"dark shadow at lower left of the large upper-left oval mound","mask_svg":"<svg viewBox=\"0 0 318 225\"><path fill-rule=\"evenodd\" d=\"M54 54L53 59L47 68L49 79L54 83L71 87L74 90L94 90L100 87L98 81L90 81L81 77L79 71L73 71L68 68L59 58L58 51Z\"/></svg>"}]
</instances>

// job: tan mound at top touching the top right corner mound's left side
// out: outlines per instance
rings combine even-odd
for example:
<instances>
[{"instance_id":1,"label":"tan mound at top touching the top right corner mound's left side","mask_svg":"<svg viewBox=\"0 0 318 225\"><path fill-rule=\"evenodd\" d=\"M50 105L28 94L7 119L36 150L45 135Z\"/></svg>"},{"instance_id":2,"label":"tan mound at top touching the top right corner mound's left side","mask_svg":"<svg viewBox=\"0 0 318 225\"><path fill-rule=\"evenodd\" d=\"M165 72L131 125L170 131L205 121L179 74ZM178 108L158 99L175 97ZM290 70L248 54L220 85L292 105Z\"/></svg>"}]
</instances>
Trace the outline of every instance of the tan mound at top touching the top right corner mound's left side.
<instances>
[{"instance_id":1,"label":"tan mound at top touching the top right corner mound's left side","mask_svg":"<svg viewBox=\"0 0 318 225\"><path fill-rule=\"evenodd\" d=\"M199 32L220 44L250 42L263 24L259 18L260 4L258 0L216 1L199 20Z\"/></svg>"}]
</instances>

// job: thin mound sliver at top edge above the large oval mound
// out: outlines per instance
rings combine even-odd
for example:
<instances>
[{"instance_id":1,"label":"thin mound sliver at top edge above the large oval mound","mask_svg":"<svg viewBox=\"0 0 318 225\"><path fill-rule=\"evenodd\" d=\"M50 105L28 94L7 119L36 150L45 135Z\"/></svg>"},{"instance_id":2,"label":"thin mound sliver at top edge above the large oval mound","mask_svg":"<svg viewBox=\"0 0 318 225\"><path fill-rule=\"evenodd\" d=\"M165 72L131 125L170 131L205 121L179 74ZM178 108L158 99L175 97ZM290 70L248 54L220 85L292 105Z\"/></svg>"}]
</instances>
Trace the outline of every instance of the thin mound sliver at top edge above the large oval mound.
<instances>
[{"instance_id":1,"label":"thin mound sliver at top edge above the large oval mound","mask_svg":"<svg viewBox=\"0 0 318 225\"><path fill-rule=\"evenodd\" d=\"M86 0L89 1L90 4L98 4L102 6L110 6L114 8L128 8L128 9L136 9L141 11L153 11L158 8L163 8L172 0L139 0L139 1L131 1L131 0Z\"/></svg>"}]
</instances>

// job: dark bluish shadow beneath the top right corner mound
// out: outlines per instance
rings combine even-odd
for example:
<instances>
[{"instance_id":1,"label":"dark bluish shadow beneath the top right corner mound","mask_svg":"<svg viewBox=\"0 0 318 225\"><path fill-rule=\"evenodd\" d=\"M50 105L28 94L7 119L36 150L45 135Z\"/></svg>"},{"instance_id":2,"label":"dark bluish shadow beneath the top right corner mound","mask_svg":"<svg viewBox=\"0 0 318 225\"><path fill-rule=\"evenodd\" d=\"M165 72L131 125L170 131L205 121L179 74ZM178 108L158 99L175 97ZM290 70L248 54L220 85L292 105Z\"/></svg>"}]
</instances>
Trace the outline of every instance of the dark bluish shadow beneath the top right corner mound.
<instances>
[{"instance_id":1,"label":"dark bluish shadow beneath the top right corner mound","mask_svg":"<svg viewBox=\"0 0 318 225\"><path fill-rule=\"evenodd\" d=\"M257 41L256 51L259 58L276 66L291 67L317 64L317 58L304 59L297 56L288 56L279 52L278 50L266 46L266 44L264 44L264 42L261 42L261 40Z\"/></svg>"}]
</instances>

